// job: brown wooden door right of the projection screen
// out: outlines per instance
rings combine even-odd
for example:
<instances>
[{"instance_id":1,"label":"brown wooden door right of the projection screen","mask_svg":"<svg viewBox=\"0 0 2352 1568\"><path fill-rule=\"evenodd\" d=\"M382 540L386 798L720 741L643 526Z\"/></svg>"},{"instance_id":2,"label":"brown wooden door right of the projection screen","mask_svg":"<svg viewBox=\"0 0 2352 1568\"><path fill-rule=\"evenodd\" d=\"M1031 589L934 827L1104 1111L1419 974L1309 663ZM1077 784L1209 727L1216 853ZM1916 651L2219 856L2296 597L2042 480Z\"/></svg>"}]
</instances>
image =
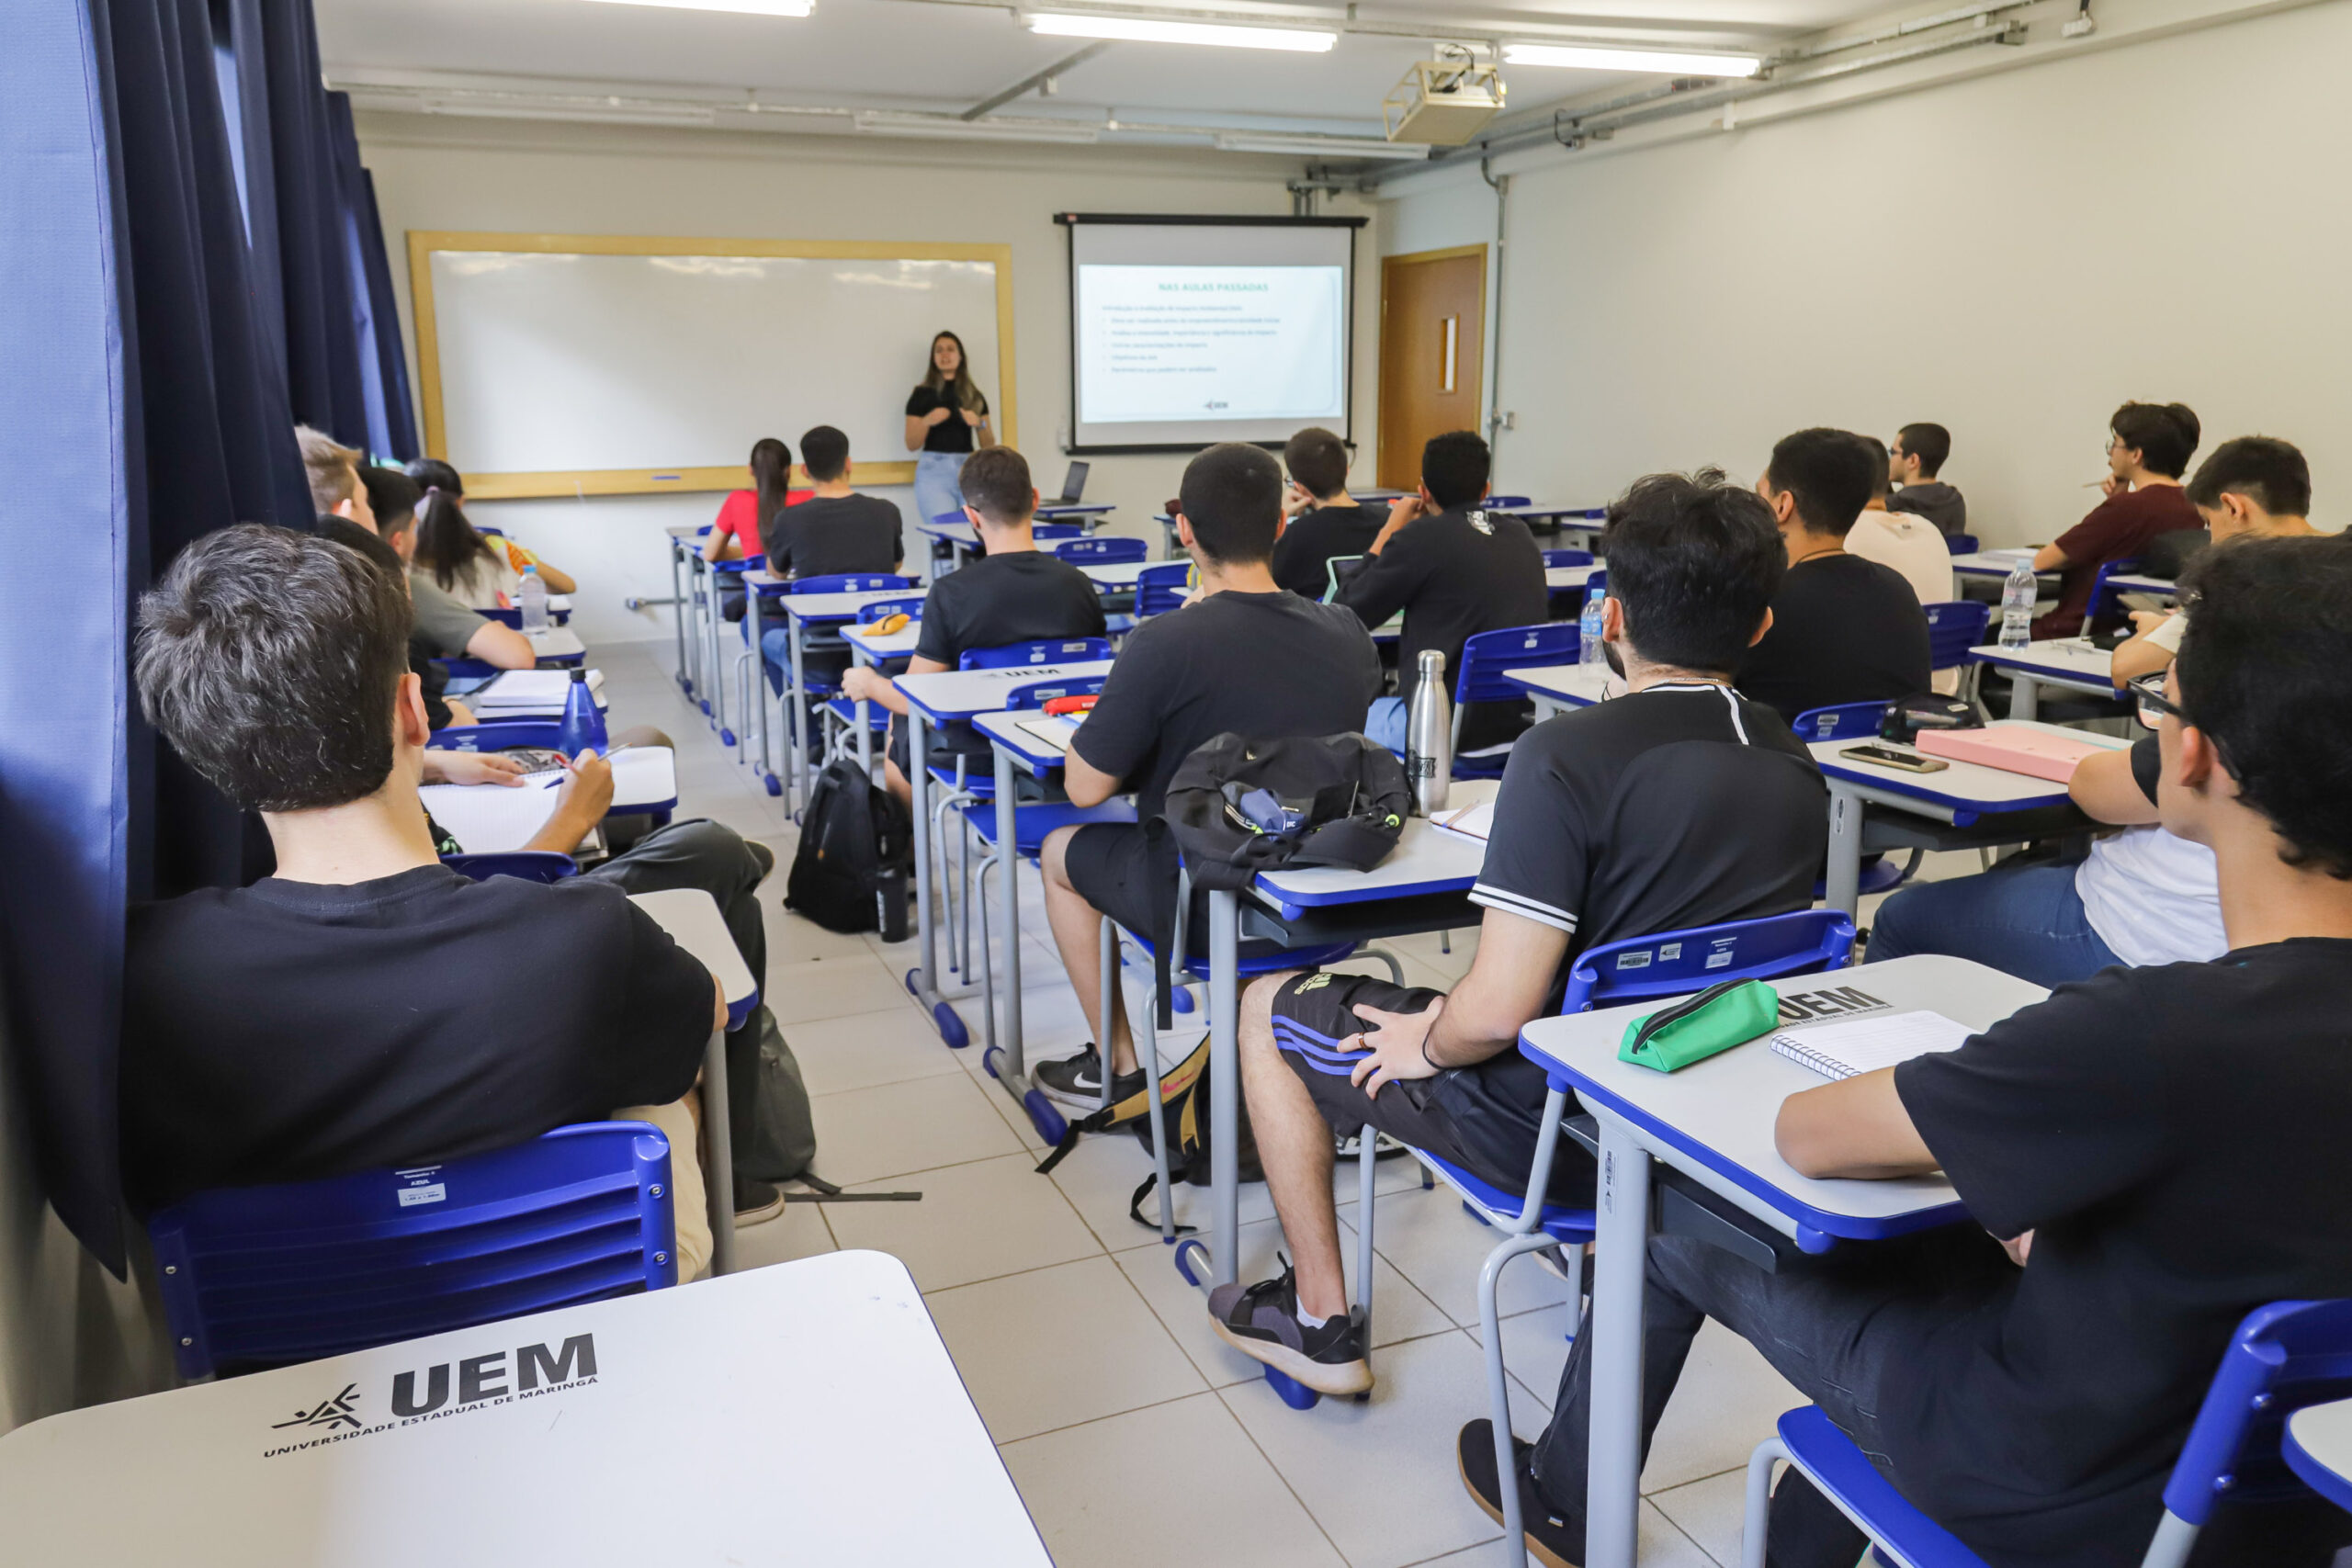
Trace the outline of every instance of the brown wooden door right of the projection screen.
<instances>
[{"instance_id":1,"label":"brown wooden door right of the projection screen","mask_svg":"<svg viewBox=\"0 0 2352 1568\"><path fill-rule=\"evenodd\" d=\"M1486 367L1486 247L1381 259L1378 484L1421 484L1421 447L1479 430Z\"/></svg>"}]
</instances>

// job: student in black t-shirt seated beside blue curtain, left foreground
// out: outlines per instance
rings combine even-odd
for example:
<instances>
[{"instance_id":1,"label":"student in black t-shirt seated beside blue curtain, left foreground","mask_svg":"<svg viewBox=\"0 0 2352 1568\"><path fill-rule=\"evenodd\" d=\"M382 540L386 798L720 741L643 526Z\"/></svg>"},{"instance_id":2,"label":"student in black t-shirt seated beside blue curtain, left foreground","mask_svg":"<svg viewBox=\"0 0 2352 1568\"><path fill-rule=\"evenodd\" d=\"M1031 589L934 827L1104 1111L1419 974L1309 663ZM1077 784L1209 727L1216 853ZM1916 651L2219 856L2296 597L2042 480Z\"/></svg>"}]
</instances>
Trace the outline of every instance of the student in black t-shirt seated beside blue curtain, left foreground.
<instances>
[{"instance_id":1,"label":"student in black t-shirt seated beside blue curtain, left foreground","mask_svg":"<svg viewBox=\"0 0 2352 1568\"><path fill-rule=\"evenodd\" d=\"M261 813L278 872L132 912L125 1190L153 1211L647 1117L691 1274L710 1237L687 1095L727 999L614 886L440 865L407 623L367 559L259 524L181 550L139 607L148 719Z\"/></svg>"}]
</instances>

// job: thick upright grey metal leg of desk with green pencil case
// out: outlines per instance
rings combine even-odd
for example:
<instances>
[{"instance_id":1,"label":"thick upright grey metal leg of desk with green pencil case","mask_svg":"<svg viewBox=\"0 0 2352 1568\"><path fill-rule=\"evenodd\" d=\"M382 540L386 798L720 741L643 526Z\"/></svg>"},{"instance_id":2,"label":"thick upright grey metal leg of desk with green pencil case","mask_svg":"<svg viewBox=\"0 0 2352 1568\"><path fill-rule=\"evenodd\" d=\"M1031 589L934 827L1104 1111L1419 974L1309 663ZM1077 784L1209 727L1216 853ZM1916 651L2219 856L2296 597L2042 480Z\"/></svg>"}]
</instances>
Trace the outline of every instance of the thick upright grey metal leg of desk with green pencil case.
<instances>
[{"instance_id":1,"label":"thick upright grey metal leg of desk with green pencil case","mask_svg":"<svg viewBox=\"0 0 2352 1568\"><path fill-rule=\"evenodd\" d=\"M1585 1568L1635 1568L1642 1507L1642 1281L1649 1274L1649 1152L1602 1124L1592 1262L1592 1432L1585 1467Z\"/></svg>"}]
</instances>

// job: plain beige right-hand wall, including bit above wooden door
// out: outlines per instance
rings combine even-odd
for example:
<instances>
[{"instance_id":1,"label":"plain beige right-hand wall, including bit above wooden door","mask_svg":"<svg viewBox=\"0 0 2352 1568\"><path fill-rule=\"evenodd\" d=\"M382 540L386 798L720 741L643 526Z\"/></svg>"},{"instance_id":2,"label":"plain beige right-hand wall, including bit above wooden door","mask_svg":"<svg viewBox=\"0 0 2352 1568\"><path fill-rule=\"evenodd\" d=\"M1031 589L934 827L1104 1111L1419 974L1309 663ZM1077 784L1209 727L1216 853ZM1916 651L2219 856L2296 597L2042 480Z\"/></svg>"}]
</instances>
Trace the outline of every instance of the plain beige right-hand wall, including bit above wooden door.
<instances>
[{"instance_id":1,"label":"plain beige right-hand wall, including bit above wooden door","mask_svg":"<svg viewBox=\"0 0 2352 1568\"><path fill-rule=\"evenodd\" d=\"M2305 447L2352 512L2352 5L2312 5L1778 125L1557 153L1510 190L1510 489L1750 477L1802 425L1952 428L1990 543L2046 541L2126 397L2201 451ZM1395 249L1491 237L1477 172L1392 202Z\"/></svg>"}]
</instances>

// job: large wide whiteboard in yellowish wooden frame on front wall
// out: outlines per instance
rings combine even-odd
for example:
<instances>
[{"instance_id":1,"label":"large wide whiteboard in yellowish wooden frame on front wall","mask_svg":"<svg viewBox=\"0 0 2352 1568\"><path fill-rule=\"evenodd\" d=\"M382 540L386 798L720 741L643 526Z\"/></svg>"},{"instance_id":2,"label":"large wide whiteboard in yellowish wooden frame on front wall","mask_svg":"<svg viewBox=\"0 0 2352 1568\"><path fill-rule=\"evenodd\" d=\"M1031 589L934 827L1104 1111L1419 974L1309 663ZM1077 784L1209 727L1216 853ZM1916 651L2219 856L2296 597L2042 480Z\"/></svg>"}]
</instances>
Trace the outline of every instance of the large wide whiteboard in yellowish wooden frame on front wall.
<instances>
[{"instance_id":1,"label":"large wide whiteboard in yellowish wooden frame on front wall","mask_svg":"<svg viewBox=\"0 0 2352 1568\"><path fill-rule=\"evenodd\" d=\"M412 233L426 449L482 498L734 489L837 425L903 482L938 331L1016 437L1009 249Z\"/></svg>"}]
</instances>

